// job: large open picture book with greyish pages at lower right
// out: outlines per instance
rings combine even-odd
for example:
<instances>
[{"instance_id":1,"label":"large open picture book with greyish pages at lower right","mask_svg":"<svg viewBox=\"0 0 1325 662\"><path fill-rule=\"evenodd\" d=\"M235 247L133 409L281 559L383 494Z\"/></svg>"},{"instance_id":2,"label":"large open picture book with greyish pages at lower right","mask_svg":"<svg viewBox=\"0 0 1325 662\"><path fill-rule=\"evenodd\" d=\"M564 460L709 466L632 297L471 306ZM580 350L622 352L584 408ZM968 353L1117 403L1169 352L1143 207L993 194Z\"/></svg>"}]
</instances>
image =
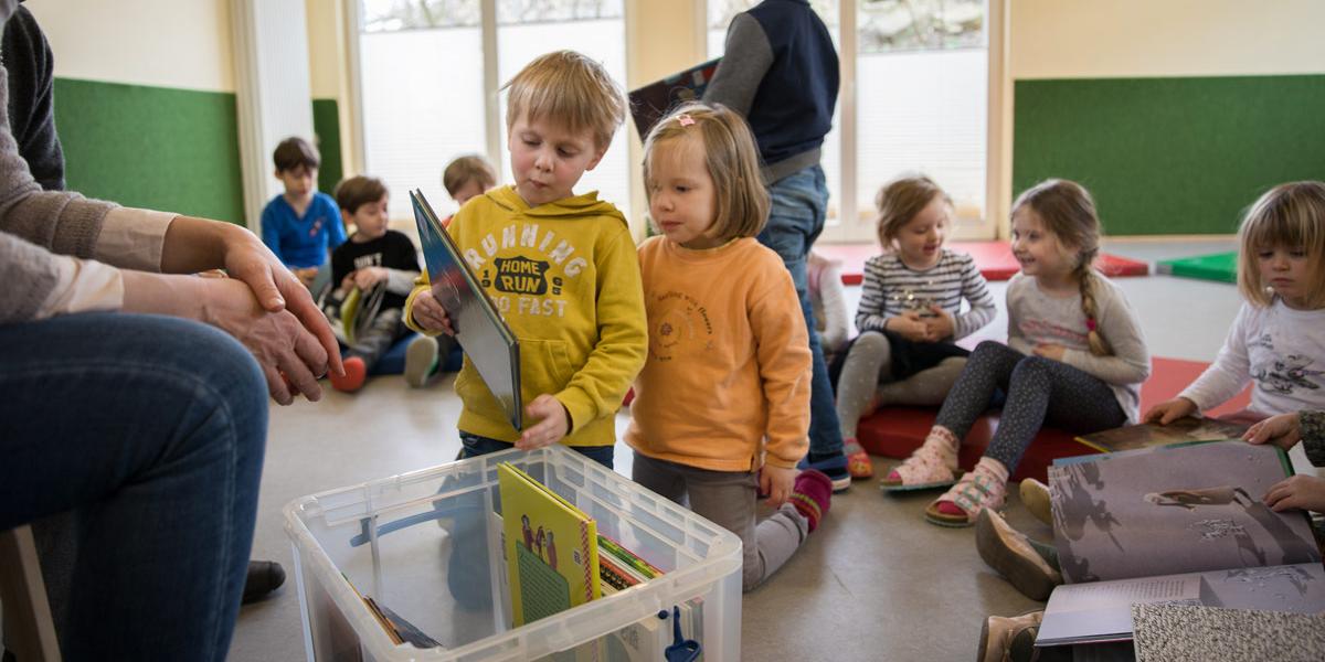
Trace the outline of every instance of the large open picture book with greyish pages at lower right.
<instances>
[{"instance_id":1,"label":"large open picture book with greyish pages at lower right","mask_svg":"<svg viewBox=\"0 0 1325 662\"><path fill-rule=\"evenodd\" d=\"M1292 475L1275 446L1181 444L1049 467L1053 589L1036 646L1129 641L1133 604L1325 610L1306 515L1261 498Z\"/></svg>"}]
</instances>

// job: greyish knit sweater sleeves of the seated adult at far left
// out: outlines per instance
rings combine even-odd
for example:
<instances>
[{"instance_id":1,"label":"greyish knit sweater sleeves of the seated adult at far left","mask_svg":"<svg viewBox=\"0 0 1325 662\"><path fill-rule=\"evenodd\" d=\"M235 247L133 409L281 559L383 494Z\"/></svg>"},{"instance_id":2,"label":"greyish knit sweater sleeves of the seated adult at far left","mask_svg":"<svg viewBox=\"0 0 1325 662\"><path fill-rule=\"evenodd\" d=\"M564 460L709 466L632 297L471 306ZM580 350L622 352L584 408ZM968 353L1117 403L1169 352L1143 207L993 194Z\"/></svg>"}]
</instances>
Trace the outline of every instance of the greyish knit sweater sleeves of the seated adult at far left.
<instances>
[{"instance_id":1,"label":"greyish knit sweater sleeves of the seated adult at far left","mask_svg":"<svg viewBox=\"0 0 1325 662\"><path fill-rule=\"evenodd\" d=\"M77 193L42 191L19 156L9 132L8 79L0 69L0 320L32 319L58 282L60 261L52 253L93 257L111 203ZM45 250L42 250L45 249Z\"/></svg>"}]
</instances>

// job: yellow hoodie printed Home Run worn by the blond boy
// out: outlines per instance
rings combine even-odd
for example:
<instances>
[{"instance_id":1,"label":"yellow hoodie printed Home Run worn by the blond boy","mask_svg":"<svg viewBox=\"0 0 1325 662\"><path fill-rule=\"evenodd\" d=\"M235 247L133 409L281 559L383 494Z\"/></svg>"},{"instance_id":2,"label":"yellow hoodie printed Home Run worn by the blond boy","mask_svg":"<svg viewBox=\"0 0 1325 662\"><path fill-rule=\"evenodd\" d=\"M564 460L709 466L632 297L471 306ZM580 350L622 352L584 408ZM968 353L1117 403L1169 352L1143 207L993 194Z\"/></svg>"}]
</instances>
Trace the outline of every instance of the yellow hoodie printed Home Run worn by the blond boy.
<instances>
[{"instance_id":1,"label":"yellow hoodie printed Home Run worn by the blond boy","mask_svg":"<svg viewBox=\"0 0 1325 662\"><path fill-rule=\"evenodd\" d=\"M612 414L648 350L640 265L621 212L596 192L530 208L502 187L466 203L447 232L519 338L523 401L550 393L566 406L563 444L615 444ZM420 281L405 302L415 331L423 331L412 312L427 274ZM462 432L519 440L468 356L456 393Z\"/></svg>"}]
</instances>

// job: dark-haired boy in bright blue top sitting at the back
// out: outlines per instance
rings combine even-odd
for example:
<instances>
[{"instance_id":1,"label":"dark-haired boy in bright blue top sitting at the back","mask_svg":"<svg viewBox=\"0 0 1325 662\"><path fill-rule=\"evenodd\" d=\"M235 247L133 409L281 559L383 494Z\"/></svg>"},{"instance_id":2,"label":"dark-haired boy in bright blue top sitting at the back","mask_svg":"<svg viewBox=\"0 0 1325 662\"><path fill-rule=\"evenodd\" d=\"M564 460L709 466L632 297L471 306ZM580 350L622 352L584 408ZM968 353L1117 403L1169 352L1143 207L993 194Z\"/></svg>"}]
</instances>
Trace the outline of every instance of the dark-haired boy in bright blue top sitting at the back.
<instances>
[{"instance_id":1,"label":"dark-haired boy in bright blue top sitting at the back","mask_svg":"<svg viewBox=\"0 0 1325 662\"><path fill-rule=\"evenodd\" d=\"M322 156L307 140L281 140L272 160L285 193L262 208L262 244L309 286L329 253L344 242L341 212L331 196L318 192Z\"/></svg>"}]
</instances>

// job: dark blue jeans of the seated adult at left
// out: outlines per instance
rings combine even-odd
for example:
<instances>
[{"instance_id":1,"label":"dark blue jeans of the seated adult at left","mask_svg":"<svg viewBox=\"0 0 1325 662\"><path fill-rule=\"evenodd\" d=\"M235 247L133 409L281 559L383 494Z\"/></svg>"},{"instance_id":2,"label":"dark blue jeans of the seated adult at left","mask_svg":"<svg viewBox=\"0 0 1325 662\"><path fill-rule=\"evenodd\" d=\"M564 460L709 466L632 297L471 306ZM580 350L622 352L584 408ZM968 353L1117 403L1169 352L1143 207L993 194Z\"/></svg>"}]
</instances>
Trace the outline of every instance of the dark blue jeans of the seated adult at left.
<instances>
[{"instance_id":1,"label":"dark blue jeans of the seated adult at left","mask_svg":"<svg viewBox=\"0 0 1325 662\"><path fill-rule=\"evenodd\" d=\"M74 511L65 659L225 658L257 512L266 383L174 318L0 326L0 530Z\"/></svg>"}]
</instances>

